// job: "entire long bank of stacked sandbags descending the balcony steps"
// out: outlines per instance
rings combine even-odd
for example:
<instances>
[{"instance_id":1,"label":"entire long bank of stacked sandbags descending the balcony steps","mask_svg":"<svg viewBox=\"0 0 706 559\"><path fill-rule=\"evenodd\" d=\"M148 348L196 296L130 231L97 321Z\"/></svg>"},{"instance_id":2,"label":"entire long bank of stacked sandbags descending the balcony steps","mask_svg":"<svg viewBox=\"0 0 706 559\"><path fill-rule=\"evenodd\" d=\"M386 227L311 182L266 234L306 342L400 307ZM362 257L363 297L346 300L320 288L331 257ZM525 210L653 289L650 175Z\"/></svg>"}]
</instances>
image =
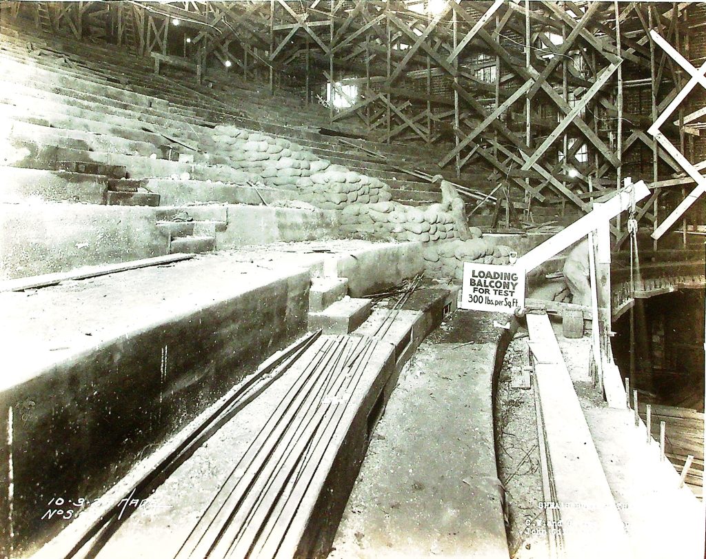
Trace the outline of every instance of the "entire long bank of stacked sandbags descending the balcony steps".
<instances>
[{"instance_id":1,"label":"entire long bank of stacked sandbags descending the balcony steps","mask_svg":"<svg viewBox=\"0 0 706 559\"><path fill-rule=\"evenodd\" d=\"M242 169L253 180L297 192L297 198L324 210L340 210L345 236L419 241L426 273L462 279L464 262L508 264L510 248L492 246L471 227L471 239L461 241L453 216L442 204L426 207L392 201L390 187L371 176L331 164L301 145L235 126L219 125L203 148L214 153L212 164Z\"/></svg>"}]
</instances>

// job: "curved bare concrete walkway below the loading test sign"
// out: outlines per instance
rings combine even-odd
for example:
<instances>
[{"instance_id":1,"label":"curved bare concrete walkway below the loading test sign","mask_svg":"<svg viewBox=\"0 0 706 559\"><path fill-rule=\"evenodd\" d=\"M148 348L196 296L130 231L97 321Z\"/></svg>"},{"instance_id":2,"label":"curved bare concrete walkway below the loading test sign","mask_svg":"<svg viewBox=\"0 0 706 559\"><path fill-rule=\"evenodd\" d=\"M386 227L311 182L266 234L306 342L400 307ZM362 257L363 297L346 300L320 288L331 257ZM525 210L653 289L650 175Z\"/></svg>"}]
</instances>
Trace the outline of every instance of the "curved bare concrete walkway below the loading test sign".
<instances>
[{"instance_id":1,"label":"curved bare concrete walkway below the loading test sign","mask_svg":"<svg viewBox=\"0 0 706 559\"><path fill-rule=\"evenodd\" d=\"M376 427L330 558L507 558L493 450L500 330L455 315L402 371Z\"/></svg>"}]
</instances>

